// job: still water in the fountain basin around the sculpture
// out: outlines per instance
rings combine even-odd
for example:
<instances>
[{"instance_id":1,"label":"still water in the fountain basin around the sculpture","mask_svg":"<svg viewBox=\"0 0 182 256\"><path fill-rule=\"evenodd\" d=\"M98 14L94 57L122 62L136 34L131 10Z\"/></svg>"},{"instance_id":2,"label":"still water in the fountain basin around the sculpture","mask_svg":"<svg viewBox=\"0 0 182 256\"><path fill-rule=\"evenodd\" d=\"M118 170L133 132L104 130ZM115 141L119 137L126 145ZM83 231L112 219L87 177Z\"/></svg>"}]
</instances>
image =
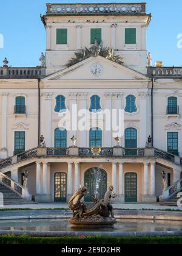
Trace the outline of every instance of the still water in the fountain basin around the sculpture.
<instances>
[{"instance_id":1,"label":"still water in the fountain basin around the sculpture","mask_svg":"<svg viewBox=\"0 0 182 256\"><path fill-rule=\"evenodd\" d=\"M68 219L24 219L1 221L0 230L30 230L30 231L80 231L72 229ZM181 221L153 221L146 219L117 219L114 228L81 229L83 231L113 231L113 232L155 232L182 230Z\"/></svg>"}]
</instances>

